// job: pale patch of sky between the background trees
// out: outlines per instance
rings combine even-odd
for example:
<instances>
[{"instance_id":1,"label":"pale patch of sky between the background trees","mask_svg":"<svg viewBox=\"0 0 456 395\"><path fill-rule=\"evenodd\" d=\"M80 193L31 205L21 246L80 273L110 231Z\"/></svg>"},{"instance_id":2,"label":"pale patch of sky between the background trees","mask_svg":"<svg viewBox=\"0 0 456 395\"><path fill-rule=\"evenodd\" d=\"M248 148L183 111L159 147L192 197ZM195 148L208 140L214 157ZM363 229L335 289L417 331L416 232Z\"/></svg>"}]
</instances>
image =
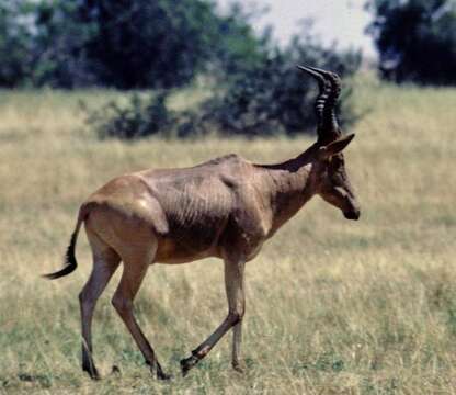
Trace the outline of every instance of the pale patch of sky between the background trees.
<instances>
[{"instance_id":1,"label":"pale patch of sky between the background trees","mask_svg":"<svg viewBox=\"0 0 456 395\"><path fill-rule=\"evenodd\" d=\"M221 10L231 0L217 0ZM299 32L299 22L314 19L314 32L324 44L337 41L341 48L362 48L366 56L374 57L372 38L364 30L371 22L371 15L363 9L366 0L249 0L260 9L267 7L269 12L253 21L253 27L260 32L265 25L272 25L273 36L280 43Z\"/></svg>"}]
</instances>

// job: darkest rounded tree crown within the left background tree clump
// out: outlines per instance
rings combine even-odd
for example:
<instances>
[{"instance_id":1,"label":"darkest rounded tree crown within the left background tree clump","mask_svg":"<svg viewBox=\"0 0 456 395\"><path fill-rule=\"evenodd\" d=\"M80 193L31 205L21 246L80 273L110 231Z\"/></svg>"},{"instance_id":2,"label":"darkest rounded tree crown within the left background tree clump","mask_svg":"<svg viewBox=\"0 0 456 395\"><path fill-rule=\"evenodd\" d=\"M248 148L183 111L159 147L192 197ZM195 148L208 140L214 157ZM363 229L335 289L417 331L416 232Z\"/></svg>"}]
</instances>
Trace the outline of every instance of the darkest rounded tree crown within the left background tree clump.
<instances>
[{"instance_id":1,"label":"darkest rounded tree crown within the left background tree clump","mask_svg":"<svg viewBox=\"0 0 456 395\"><path fill-rule=\"evenodd\" d=\"M203 0L81 0L78 16L94 26L87 49L100 82L123 89L189 82L217 32L213 7Z\"/></svg>"}]
</instances>

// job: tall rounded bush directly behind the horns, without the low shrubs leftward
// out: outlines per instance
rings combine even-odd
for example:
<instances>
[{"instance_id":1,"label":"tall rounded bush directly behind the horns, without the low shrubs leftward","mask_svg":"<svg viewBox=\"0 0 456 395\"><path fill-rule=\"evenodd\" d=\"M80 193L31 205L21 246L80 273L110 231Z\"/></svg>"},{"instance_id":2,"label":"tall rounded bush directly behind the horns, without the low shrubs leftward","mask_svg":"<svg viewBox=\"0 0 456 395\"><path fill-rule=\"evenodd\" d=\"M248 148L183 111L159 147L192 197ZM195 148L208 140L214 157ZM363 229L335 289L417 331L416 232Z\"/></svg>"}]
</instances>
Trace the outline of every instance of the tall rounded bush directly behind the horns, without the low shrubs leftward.
<instances>
[{"instance_id":1,"label":"tall rounded bush directly behind the horns, without the low shrubs leftward","mask_svg":"<svg viewBox=\"0 0 456 395\"><path fill-rule=\"evenodd\" d=\"M303 133L315 127L314 103L316 81L296 69L304 64L338 72L341 77L353 75L360 67L361 56L334 48L324 49L307 37L294 38L285 50L274 49L262 64L231 77L228 88L204 106L206 122L216 124L227 134L248 136ZM350 82L344 81L339 101L342 124L357 119L351 101Z\"/></svg>"}]
</instances>

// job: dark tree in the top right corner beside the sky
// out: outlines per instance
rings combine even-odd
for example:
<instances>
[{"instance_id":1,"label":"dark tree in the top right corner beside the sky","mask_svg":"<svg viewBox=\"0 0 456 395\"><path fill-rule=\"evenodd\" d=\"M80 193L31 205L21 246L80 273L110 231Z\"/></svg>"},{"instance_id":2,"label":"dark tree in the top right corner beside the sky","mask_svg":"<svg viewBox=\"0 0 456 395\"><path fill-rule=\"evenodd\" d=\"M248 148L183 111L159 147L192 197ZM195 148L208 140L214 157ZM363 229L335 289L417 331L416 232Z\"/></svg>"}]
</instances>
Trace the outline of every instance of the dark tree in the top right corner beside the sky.
<instances>
[{"instance_id":1,"label":"dark tree in the top right corner beside the sky","mask_svg":"<svg viewBox=\"0 0 456 395\"><path fill-rule=\"evenodd\" d=\"M368 32L385 79L456 83L454 0L372 0L366 7L374 13Z\"/></svg>"}]
</instances>

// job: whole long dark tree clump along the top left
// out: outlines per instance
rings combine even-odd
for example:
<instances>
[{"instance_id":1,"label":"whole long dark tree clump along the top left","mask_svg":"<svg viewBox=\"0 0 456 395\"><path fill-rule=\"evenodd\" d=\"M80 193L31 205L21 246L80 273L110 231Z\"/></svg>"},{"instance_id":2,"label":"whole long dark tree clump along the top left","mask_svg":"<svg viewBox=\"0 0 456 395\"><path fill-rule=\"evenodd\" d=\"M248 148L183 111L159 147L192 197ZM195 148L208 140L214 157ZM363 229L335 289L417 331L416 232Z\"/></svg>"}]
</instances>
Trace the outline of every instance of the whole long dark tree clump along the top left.
<instances>
[{"instance_id":1,"label":"whole long dark tree clump along the top left","mask_svg":"<svg viewBox=\"0 0 456 395\"><path fill-rule=\"evenodd\" d=\"M173 88L261 53L242 7L209 0L11 0L0 33L3 86Z\"/></svg>"}]
</instances>

